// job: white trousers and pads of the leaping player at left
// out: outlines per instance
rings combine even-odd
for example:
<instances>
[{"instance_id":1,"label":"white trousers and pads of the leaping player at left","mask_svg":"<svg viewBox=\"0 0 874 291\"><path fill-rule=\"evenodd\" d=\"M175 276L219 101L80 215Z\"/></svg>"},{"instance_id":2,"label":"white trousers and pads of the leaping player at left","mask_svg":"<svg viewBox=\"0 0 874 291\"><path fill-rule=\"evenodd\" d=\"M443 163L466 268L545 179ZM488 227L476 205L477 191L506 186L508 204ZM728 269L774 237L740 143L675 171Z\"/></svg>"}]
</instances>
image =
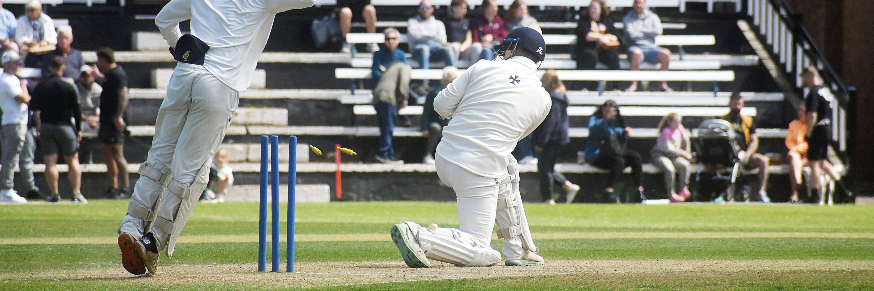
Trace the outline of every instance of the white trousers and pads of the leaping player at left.
<instances>
[{"instance_id":1,"label":"white trousers and pads of the leaping player at left","mask_svg":"<svg viewBox=\"0 0 874 291\"><path fill-rule=\"evenodd\" d=\"M149 157L142 163L119 233L153 232L167 255L204 191L212 156L237 110L239 92L204 66L177 63L158 110Z\"/></svg>"}]
</instances>

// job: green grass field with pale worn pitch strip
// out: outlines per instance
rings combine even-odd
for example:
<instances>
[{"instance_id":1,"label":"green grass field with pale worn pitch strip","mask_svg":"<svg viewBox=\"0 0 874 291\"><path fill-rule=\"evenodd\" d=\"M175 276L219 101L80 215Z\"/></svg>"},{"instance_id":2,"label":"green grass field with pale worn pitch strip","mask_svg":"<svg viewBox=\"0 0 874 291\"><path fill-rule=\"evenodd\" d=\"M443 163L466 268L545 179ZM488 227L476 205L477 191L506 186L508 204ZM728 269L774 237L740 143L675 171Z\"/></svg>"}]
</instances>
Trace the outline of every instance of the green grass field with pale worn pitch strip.
<instances>
[{"instance_id":1,"label":"green grass field with pale worn pitch strip","mask_svg":"<svg viewBox=\"0 0 874 291\"><path fill-rule=\"evenodd\" d=\"M115 254L126 209L126 201L109 200L0 205L0 289L874 290L871 205L526 204L547 265L567 266L547 272L402 268L388 239L391 226L457 226L452 203L299 204L301 273L258 274L258 204L198 204L173 258L162 254L167 274L135 279ZM500 240L493 246L500 249ZM343 275L344 265L355 264L381 267L357 266L356 274L372 280ZM322 268L333 271L316 271ZM198 276L185 277L186 270ZM502 274L507 270L525 271Z\"/></svg>"}]
</instances>

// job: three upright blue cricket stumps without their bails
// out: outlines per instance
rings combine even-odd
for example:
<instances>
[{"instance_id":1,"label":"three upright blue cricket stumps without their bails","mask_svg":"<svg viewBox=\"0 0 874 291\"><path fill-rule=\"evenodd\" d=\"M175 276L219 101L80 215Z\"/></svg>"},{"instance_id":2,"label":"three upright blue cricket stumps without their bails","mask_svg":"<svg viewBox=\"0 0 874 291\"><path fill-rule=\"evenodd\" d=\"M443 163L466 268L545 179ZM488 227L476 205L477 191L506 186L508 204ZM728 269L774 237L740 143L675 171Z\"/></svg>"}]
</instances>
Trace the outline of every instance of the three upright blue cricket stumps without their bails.
<instances>
[{"instance_id":1,"label":"three upright blue cricket stumps without their bails","mask_svg":"<svg viewBox=\"0 0 874 291\"><path fill-rule=\"evenodd\" d=\"M269 140L269 145L268 145ZM286 229L286 271L295 272L295 184L297 136L288 138L288 228ZM273 272L279 272L279 136L261 135L260 201L258 220L258 271L267 271L267 150L270 150L271 253Z\"/></svg>"}]
</instances>

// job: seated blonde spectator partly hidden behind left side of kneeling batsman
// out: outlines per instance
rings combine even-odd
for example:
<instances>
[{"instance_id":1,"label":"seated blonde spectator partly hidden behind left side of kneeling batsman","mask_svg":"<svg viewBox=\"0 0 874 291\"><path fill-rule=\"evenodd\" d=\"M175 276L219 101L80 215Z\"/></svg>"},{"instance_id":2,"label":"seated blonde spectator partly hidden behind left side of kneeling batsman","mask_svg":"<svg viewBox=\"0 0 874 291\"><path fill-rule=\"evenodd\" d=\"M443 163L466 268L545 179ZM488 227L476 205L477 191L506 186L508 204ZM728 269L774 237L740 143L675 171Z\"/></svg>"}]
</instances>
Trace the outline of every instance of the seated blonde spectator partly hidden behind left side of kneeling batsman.
<instances>
[{"instance_id":1,"label":"seated blonde spectator partly hidden behind left side of kneeling batsman","mask_svg":"<svg viewBox=\"0 0 874 291\"><path fill-rule=\"evenodd\" d=\"M443 78L440 79L440 87L434 87L431 92L425 97L425 105L422 106L422 116L419 129L422 131L422 137L427 138L428 142L425 147L425 158L423 163L434 164L434 149L437 149L437 143L443 138L443 127L447 126L448 120L440 119L440 114L434 111L434 98L440 93L440 90L449 86L455 78L461 75L454 66L443 68Z\"/></svg>"}]
</instances>

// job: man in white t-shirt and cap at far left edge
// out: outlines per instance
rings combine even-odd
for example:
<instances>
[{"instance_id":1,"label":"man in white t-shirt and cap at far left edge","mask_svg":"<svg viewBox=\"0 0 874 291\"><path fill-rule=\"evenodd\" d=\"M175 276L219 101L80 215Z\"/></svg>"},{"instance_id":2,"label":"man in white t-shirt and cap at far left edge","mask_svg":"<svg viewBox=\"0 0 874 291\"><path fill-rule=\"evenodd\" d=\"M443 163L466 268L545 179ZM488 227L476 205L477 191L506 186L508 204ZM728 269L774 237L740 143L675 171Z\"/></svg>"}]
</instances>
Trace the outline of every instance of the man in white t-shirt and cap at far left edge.
<instances>
[{"instance_id":1,"label":"man in white t-shirt and cap at far left edge","mask_svg":"<svg viewBox=\"0 0 874 291\"><path fill-rule=\"evenodd\" d=\"M27 81L18 80L17 52L3 52L3 73L0 74L0 108L3 109L3 157L0 159L0 201L25 203L27 199L18 196L12 189L12 178L18 164L18 156L27 135L27 102L31 94L27 92Z\"/></svg>"}]
</instances>

